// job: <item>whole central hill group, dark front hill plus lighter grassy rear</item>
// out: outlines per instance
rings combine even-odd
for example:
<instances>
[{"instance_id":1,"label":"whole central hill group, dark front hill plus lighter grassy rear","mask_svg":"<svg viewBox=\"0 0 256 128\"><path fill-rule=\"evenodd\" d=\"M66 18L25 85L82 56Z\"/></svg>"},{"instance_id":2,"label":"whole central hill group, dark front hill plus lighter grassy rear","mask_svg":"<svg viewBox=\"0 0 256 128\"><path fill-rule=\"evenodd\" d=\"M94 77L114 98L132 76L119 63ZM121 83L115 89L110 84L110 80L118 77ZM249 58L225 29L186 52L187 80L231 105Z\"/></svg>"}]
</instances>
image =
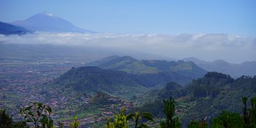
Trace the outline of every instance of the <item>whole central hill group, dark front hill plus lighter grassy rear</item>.
<instances>
[{"instance_id":1,"label":"whole central hill group, dark front hill plus lighter grassy rear","mask_svg":"<svg viewBox=\"0 0 256 128\"><path fill-rule=\"evenodd\" d=\"M206 73L193 62L109 56L93 61L86 67L72 68L51 84L77 92L105 91L117 95L117 92L125 93L132 88L162 86L171 81L186 85Z\"/></svg>"}]
</instances>

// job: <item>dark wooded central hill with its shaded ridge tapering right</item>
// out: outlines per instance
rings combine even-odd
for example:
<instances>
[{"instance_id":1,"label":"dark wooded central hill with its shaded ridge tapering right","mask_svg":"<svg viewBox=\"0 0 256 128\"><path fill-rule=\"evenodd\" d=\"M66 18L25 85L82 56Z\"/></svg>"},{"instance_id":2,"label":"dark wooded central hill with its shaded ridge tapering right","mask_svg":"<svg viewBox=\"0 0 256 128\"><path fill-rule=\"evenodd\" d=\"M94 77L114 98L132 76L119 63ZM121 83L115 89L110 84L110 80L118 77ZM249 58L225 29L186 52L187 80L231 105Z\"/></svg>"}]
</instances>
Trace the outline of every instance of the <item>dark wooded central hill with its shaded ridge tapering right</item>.
<instances>
[{"instance_id":1,"label":"dark wooded central hill with its shaded ridge tapering right","mask_svg":"<svg viewBox=\"0 0 256 128\"><path fill-rule=\"evenodd\" d=\"M99 67L71 68L62 76L49 83L56 88L76 92L107 92L112 95L133 96L149 87L166 84L170 81L188 81L191 78L179 74L127 74L119 70L107 70ZM126 93L126 94L125 94ZM129 97L129 98L131 98Z\"/></svg>"}]
</instances>

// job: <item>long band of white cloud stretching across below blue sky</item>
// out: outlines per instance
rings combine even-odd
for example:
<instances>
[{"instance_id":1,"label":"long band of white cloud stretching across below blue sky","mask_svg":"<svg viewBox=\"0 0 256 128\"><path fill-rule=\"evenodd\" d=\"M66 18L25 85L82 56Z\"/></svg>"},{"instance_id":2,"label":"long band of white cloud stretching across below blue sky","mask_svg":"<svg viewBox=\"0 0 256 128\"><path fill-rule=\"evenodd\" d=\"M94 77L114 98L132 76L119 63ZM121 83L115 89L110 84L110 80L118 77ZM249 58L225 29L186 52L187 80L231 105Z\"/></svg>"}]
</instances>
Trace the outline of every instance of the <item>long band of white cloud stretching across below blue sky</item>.
<instances>
[{"instance_id":1,"label":"long band of white cloud stretching across below blue sky","mask_svg":"<svg viewBox=\"0 0 256 128\"><path fill-rule=\"evenodd\" d=\"M118 35L109 33L41 33L0 35L0 43L83 45L158 54L170 58L195 56L202 60L232 63L256 60L256 39L227 34ZM1 48L0 48L1 49Z\"/></svg>"}]
</instances>

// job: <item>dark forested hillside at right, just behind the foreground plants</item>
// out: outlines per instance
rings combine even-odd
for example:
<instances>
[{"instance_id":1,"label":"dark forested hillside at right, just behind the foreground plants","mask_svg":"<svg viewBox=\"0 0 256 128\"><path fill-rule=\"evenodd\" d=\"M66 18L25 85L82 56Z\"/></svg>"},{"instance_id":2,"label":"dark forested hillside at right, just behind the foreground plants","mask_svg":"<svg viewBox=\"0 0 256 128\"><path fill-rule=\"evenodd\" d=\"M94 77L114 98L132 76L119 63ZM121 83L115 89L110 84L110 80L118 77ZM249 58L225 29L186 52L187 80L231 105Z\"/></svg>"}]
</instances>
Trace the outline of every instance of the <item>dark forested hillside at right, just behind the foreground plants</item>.
<instances>
[{"instance_id":1,"label":"dark forested hillside at right, just behind the foreground plants","mask_svg":"<svg viewBox=\"0 0 256 128\"><path fill-rule=\"evenodd\" d=\"M196 79L188 86L168 83L161 90L153 90L138 97L144 100L144 106L130 111L149 111L155 116L164 116L163 99L173 97L177 101L177 115L180 116L184 127L191 119L211 118L220 115L222 110L242 113L242 96L256 96L256 76L241 76L232 79L226 74L208 72L204 77ZM149 100L150 99L150 100ZM150 102L154 100L154 102Z\"/></svg>"}]
</instances>

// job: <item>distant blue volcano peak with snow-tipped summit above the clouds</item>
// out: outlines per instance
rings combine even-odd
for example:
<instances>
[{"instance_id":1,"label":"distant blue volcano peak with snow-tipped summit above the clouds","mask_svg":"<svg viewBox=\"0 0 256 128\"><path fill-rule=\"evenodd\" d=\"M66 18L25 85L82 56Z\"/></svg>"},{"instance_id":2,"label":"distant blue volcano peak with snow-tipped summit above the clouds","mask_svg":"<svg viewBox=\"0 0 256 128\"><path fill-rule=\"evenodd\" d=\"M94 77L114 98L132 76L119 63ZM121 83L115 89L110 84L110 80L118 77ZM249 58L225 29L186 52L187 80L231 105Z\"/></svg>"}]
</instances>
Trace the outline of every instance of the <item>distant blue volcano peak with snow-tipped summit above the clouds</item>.
<instances>
[{"instance_id":1,"label":"distant blue volcano peak with snow-tipped summit above the clouds","mask_svg":"<svg viewBox=\"0 0 256 128\"><path fill-rule=\"evenodd\" d=\"M18 20L12 22L15 26L22 26L24 28L32 29L35 31L45 32L73 32L73 33L93 33L88 29L78 28L71 22L56 17L49 12L42 12L26 20Z\"/></svg>"}]
</instances>

